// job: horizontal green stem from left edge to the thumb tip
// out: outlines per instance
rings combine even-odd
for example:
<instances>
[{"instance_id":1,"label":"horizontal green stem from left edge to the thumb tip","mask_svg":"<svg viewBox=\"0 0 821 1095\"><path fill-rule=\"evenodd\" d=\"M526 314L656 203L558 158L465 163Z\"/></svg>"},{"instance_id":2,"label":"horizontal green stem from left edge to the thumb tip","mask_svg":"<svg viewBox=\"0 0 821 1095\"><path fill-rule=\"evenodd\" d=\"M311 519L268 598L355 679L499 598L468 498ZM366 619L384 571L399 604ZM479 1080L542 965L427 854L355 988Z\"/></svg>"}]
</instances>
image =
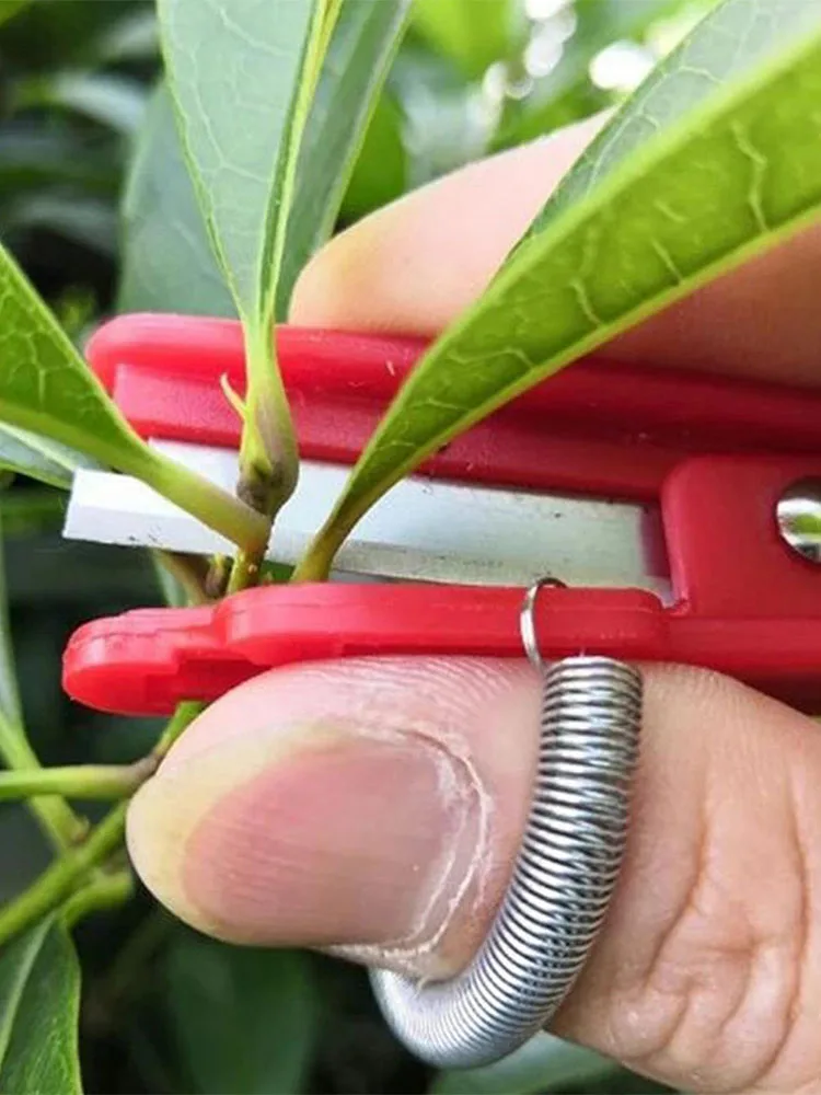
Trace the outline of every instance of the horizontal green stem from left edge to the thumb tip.
<instances>
[{"instance_id":1,"label":"horizontal green stem from left edge to the thumb tip","mask_svg":"<svg viewBox=\"0 0 821 1095\"><path fill-rule=\"evenodd\" d=\"M155 764L78 764L73 768L32 768L0 772L0 802L62 795L66 798L127 798L155 770Z\"/></svg>"}]
</instances>

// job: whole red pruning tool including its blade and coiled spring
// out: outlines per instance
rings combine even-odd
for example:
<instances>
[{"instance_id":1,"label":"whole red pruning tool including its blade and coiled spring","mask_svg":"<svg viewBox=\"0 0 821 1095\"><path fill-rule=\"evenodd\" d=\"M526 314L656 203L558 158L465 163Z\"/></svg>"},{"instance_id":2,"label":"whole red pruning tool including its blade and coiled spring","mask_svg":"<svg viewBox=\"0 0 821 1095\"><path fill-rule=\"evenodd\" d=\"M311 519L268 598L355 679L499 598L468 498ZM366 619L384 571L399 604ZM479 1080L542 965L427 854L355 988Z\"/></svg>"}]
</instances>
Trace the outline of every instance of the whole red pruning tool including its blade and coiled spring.
<instances>
[{"instance_id":1,"label":"whole red pruning tool including its blade and coiled spring","mask_svg":"<svg viewBox=\"0 0 821 1095\"><path fill-rule=\"evenodd\" d=\"M425 345L292 326L276 338L302 464L269 558L293 564ZM151 446L233 489L241 422L222 382L244 390L236 322L123 316L97 331L88 358ZM196 554L234 551L143 483L94 470L76 476L65 534ZM67 646L65 688L102 711L160 715L290 662L527 653L540 667L559 667L553 678L547 670L543 705L540 779L553 774L534 792L534 802L554 795L540 816L553 818L555 835L558 792L577 820L590 820L591 809L575 754L567 760L562 742L573 752L574 733L592 719L586 763L595 772L603 750L628 741L618 735L640 722L639 685L622 671L626 665L708 667L803 711L821 710L821 392L582 360L394 487L355 528L335 567L342 580L329 584L264 586L206 607L88 623ZM570 698L560 710L559 694ZM618 756L626 780L635 749L625 745ZM617 866L626 792L611 784L604 791L621 796L611 804L613 828L603 808L593 820L605 826ZM556 856L534 861L534 817L481 961L444 987L380 975L389 1021L433 1063L482 1063L521 1044L566 993L598 931L606 902L580 912L568 897L567 864L554 889L544 889ZM586 879L588 851L576 849L570 864ZM525 884L530 904L522 906ZM527 955L511 950L521 925L534 931L542 914L550 922L541 942L530 946L529 937ZM568 957L573 940L578 953ZM487 952L494 946L496 967ZM499 972L502 952L516 977L508 967Z\"/></svg>"}]
</instances>

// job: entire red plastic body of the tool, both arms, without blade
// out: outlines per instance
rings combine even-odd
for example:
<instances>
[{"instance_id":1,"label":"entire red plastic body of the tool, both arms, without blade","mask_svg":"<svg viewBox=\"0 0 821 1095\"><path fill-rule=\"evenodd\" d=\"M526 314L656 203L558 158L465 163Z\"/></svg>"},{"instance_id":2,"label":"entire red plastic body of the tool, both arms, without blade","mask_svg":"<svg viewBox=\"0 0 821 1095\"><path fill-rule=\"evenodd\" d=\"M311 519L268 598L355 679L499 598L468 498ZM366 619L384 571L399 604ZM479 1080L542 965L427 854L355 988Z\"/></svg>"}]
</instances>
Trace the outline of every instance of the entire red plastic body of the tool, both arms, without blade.
<instances>
[{"instance_id":1,"label":"entire red plastic body of the tool, both arms, without blade","mask_svg":"<svg viewBox=\"0 0 821 1095\"><path fill-rule=\"evenodd\" d=\"M325 459L327 450L335 459L342 450L356 454L358 430L372 424L419 350L408 342L289 330L280 331L279 345L303 450L314 458L322 450ZM220 373L234 383L242 376L234 324L116 321L96 336L91 358L142 433L235 443L218 395ZM648 389L663 400L652 402ZM351 408L344 426L343 406ZM554 450L559 466L519 466L529 446L544 442L540 415L557 407L568 408ZM431 470L470 477L481 463L487 482L553 491L571 483L581 494L601 494L606 480L620 497L659 500L673 603L631 589L545 588L536 606L545 657L601 653L705 666L818 711L821 566L782 540L775 515L791 485L821 480L820 412L821 399L806 392L581 364L454 442ZM350 423L356 428L348 430ZM591 468L587 434L616 468ZM514 460L506 460L509 445ZM582 451L574 463L573 452ZM521 657L522 595L465 586L277 586L213 608L140 610L81 627L66 650L63 684L104 711L165 714L180 700L213 700L294 661Z\"/></svg>"}]
</instances>

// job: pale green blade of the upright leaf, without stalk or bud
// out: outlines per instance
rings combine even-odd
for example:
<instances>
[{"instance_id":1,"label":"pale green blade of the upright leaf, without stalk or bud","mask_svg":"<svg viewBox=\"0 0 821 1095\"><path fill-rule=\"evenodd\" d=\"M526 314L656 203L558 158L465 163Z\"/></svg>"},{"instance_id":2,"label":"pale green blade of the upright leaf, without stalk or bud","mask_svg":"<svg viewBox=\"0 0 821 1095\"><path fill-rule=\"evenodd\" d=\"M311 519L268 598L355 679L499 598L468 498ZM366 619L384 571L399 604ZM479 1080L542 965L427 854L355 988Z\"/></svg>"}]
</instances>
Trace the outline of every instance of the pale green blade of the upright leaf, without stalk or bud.
<instances>
[{"instance_id":1,"label":"pale green blade of the upright leaf, without stalk or bud","mask_svg":"<svg viewBox=\"0 0 821 1095\"><path fill-rule=\"evenodd\" d=\"M166 73L197 195L240 315L273 313L299 139L294 100L324 4L159 0Z\"/></svg>"}]
</instances>

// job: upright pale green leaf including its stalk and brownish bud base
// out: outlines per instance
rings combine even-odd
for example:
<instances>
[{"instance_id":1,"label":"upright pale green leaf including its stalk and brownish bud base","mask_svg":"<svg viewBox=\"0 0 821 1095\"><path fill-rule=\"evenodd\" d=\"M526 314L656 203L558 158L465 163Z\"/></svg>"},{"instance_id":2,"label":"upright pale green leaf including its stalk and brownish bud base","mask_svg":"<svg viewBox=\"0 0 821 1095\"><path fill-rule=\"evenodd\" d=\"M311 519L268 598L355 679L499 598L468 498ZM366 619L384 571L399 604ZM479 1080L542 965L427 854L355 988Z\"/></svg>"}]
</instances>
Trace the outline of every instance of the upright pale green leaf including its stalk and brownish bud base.
<instances>
[{"instance_id":1,"label":"upright pale green leaf including its stalk and brownish bud base","mask_svg":"<svg viewBox=\"0 0 821 1095\"><path fill-rule=\"evenodd\" d=\"M297 158L338 0L159 0L169 87L245 335L239 493L273 516L298 456L271 324Z\"/></svg>"}]
</instances>

